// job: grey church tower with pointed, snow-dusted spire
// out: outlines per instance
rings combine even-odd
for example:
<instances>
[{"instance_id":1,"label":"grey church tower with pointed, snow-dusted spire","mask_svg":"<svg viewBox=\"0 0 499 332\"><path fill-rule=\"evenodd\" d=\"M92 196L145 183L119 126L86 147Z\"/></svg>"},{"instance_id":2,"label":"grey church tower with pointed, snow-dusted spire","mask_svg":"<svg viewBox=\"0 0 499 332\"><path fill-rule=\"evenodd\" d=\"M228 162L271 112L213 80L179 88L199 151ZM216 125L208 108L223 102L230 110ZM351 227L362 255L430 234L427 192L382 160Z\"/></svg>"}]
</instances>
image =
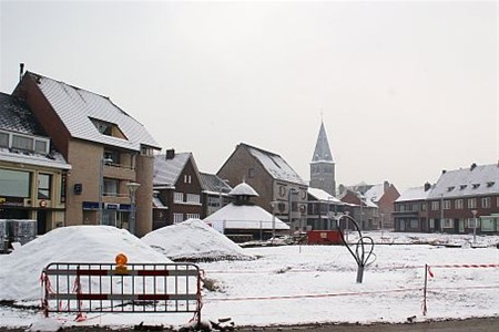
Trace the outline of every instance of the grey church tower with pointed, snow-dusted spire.
<instances>
[{"instance_id":1,"label":"grey church tower with pointed, snow-dusted spire","mask_svg":"<svg viewBox=\"0 0 499 332\"><path fill-rule=\"evenodd\" d=\"M324 121L320 122L319 135L310 163L310 187L336 195L335 162L327 141Z\"/></svg>"}]
</instances>

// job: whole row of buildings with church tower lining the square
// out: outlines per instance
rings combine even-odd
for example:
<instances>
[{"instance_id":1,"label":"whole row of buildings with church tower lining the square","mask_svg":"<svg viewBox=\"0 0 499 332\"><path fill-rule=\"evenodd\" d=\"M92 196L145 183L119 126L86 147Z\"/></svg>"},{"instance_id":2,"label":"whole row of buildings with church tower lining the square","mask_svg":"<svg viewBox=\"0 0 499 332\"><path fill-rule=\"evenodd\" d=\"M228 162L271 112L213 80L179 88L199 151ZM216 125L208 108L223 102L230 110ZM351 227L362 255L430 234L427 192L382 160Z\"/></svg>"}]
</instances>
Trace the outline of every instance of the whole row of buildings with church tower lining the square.
<instances>
[{"instance_id":1,"label":"whole row of buildings with church tower lining the square","mask_svg":"<svg viewBox=\"0 0 499 332\"><path fill-rule=\"evenodd\" d=\"M335 229L343 214L363 229L497 234L499 165L444 172L399 194L394 184L336 185L324 123L310 180L278 154L245 143L216 174L194 154L161 146L109 97L33 72L0 93L0 219L37 220L38 232L112 225L143 236L231 203L246 181L254 204L294 231Z\"/></svg>"}]
</instances>

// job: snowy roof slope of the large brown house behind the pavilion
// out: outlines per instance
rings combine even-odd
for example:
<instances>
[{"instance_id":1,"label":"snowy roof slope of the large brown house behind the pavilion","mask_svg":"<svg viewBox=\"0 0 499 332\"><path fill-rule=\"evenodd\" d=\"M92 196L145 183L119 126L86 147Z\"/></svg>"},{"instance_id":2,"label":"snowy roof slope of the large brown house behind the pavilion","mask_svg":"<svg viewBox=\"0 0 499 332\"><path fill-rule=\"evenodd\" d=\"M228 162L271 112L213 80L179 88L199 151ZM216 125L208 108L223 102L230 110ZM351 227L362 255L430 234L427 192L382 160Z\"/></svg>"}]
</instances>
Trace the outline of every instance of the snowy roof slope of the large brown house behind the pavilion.
<instances>
[{"instance_id":1,"label":"snowy roof slope of the large brown house behind the pavilion","mask_svg":"<svg viewBox=\"0 0 499 332\"><path fill-rule=\"evenodd\" d=\"M241 143L240 146L246 148L274 179L306 185L299 175L279 155L244 143Z\"/></svg>"}]
</instances>

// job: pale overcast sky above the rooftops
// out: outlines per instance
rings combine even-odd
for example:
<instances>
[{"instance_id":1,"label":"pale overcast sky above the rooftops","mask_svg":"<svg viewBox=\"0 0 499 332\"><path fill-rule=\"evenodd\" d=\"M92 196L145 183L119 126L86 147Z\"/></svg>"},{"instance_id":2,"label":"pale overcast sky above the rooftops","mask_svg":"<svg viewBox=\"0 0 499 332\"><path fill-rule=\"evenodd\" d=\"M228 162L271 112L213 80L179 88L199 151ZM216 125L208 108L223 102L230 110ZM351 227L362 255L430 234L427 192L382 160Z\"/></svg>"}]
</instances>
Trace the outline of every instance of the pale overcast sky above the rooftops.
<instances>
[{"instance_id":1,"label":"pale overcast sky above the rooftops","mask_svg":"<svg viewBox=\"0 0 499 332\"><path fill-rule=\"evenodd\" d=\"M216 173L238 143L306 180L399 190L499 157L498 1L3 1L0 91L27 70L105 96Z\"/></svg>"}]
</instances>

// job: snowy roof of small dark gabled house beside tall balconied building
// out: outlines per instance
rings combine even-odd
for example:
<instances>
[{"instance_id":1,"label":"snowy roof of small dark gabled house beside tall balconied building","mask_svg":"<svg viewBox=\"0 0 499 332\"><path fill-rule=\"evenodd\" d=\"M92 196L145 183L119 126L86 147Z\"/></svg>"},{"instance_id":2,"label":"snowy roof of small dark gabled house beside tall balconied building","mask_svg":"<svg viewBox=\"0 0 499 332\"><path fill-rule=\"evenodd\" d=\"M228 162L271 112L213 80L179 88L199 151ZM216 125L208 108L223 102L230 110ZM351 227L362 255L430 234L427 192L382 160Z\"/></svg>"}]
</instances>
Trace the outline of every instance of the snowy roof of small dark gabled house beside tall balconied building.
<instances>
[{"instance_id":1,"label":"snowy roof of small dark gabled house beside tall balconied building","mask_svg":"<svg viewBox=\"0 0 499 332\"><path fill-rule=\"evenodd\" d=\"M191 158L192 153L175 153L173 158L166 159L166 155L154 156L154 186L173 186Z\"/></svg>"}]
</instances>

